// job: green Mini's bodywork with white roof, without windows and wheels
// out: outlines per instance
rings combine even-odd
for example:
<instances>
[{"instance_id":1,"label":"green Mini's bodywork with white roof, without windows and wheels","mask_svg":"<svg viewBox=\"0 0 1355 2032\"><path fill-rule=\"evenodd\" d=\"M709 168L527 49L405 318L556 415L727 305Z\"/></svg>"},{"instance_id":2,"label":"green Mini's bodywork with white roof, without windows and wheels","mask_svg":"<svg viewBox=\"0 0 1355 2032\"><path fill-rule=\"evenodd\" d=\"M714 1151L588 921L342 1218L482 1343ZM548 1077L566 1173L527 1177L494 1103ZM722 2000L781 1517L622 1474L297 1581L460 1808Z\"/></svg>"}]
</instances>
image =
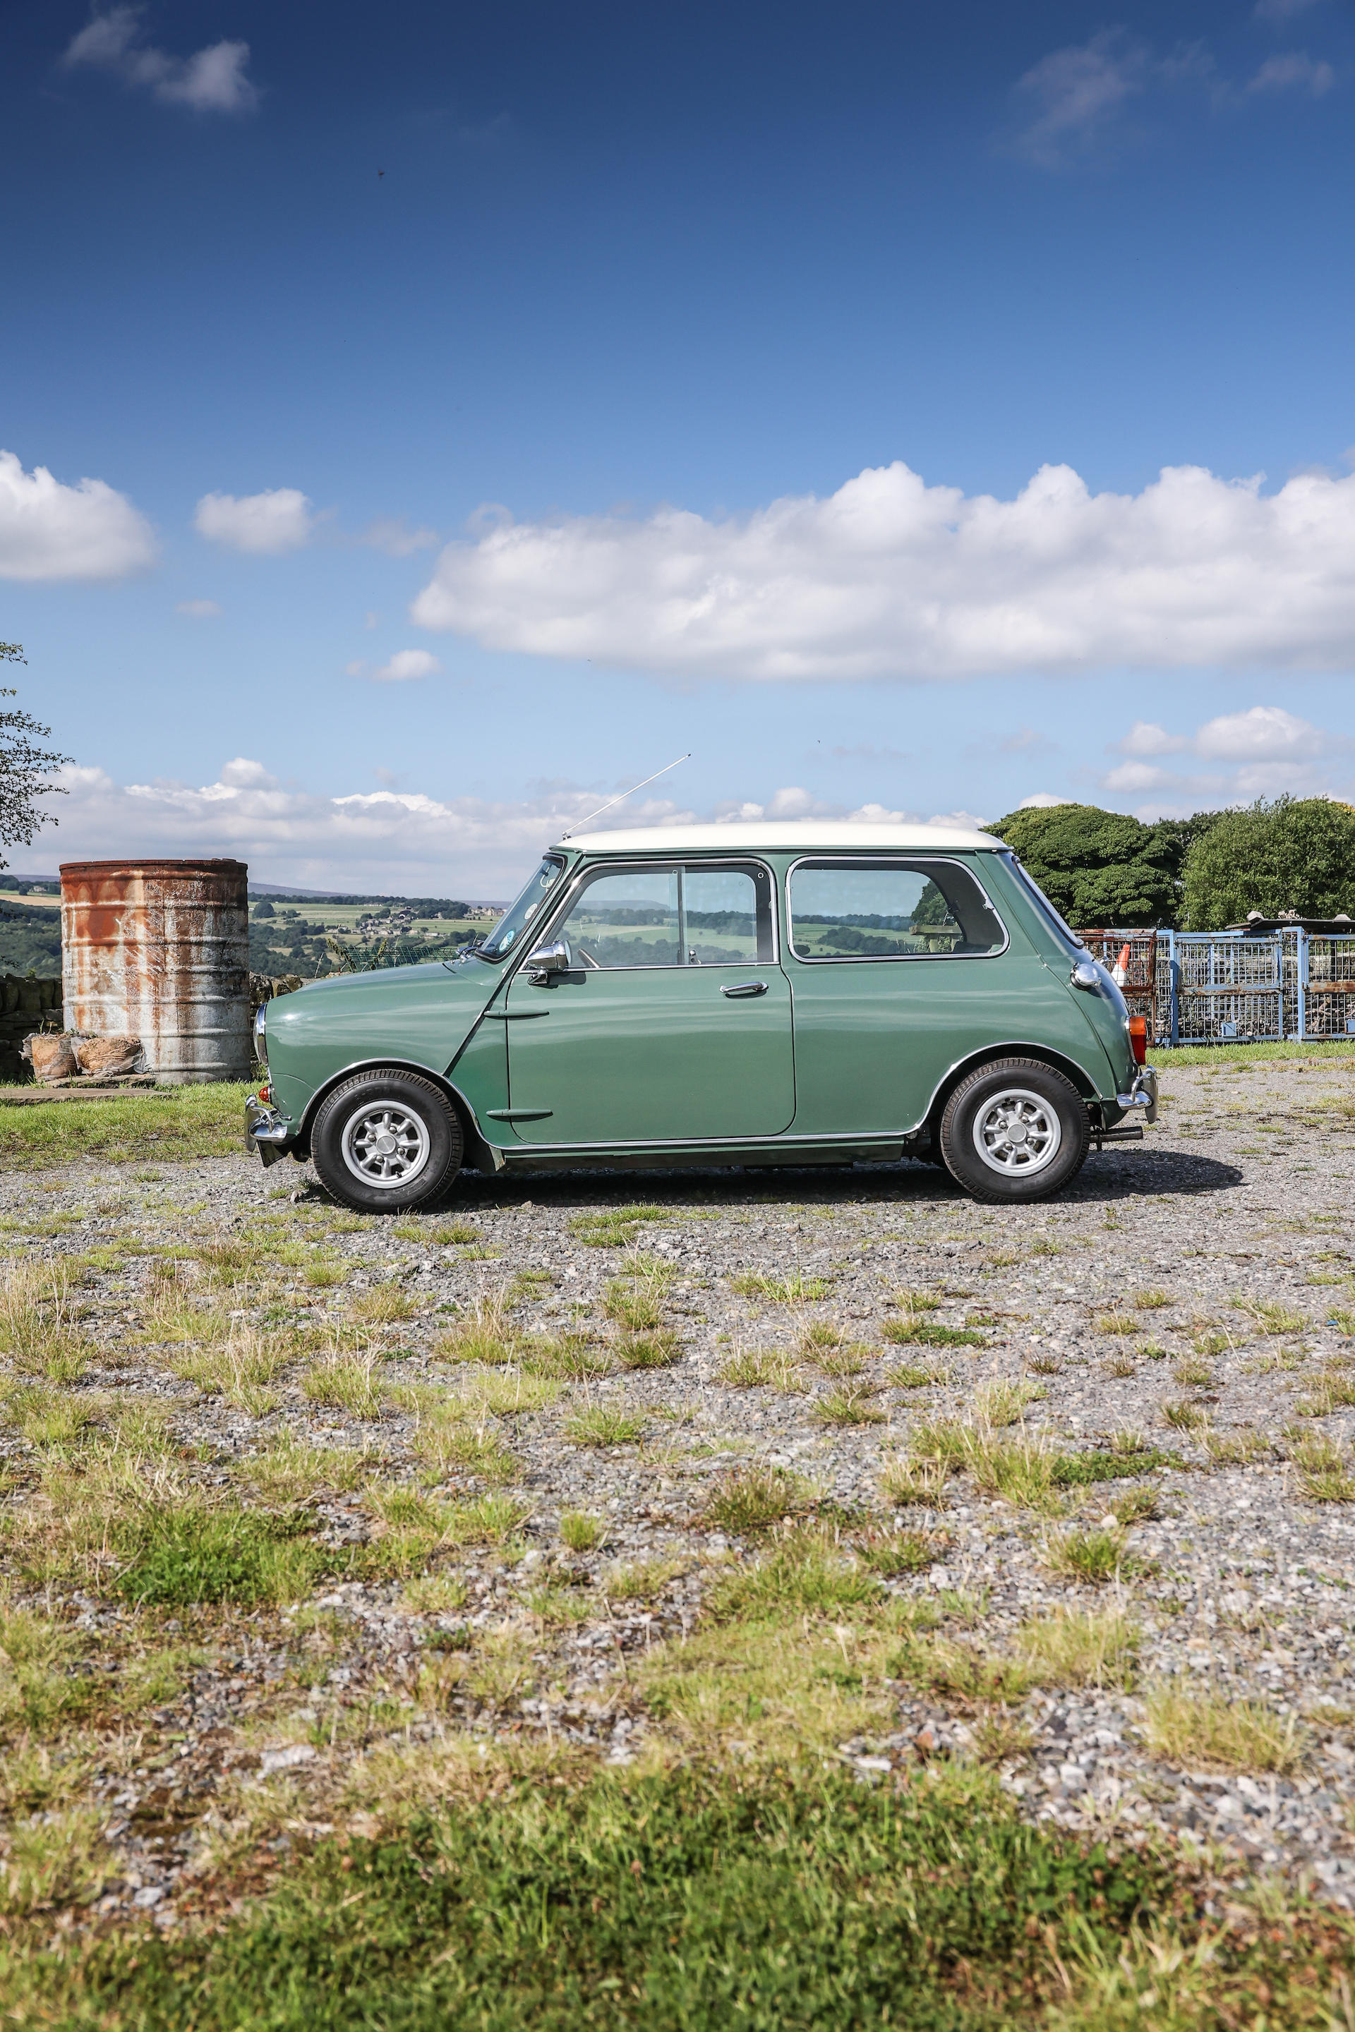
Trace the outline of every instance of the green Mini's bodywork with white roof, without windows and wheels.
<instances>
[{"instance_id":1,"label":"green Mini's bodywork with white roof, without windows and wheels","mask_svg":"<svg viewBox=\"0 0 1355 2032\"><path fill-rule=\"evenodd\" d=\"M999 841L926 827L685 827L569 841L536 918L498 961L337 975L266 1006L272 1107L305 1150L317 1103L345 1073L406 1067L459 1101L479 1162L546 1154L713 1154L786 1160L813 1148L914 1142L955 1077L1030 1055L1067 1073L1113 1128L1138 1071L1109 975L1071 981L1067 927ZM804 957L788 884L798 862L945 860L981 886L1006 943L983 953ZM575 967L532 977L599 868L760 864L772 874L774 957ZM544 886L544 878L542 878ZM280 1138L278 1138L280 1140ZM475 1152L471 1148L471 1160Z\"/></svg>"}]
</instances>

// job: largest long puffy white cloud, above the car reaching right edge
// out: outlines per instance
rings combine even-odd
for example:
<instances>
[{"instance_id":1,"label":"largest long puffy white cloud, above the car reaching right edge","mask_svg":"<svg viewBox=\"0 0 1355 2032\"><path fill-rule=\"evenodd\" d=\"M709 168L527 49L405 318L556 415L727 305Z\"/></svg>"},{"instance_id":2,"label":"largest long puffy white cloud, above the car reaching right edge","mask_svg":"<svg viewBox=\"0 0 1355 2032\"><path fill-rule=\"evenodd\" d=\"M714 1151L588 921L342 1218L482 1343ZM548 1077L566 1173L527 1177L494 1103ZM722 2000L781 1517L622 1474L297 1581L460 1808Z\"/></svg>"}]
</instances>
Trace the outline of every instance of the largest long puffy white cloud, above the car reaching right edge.
<instances>
[{"instance_id":1,"label":"largest long puffy white cloud, above the car reaching right edge","mask_svg":"<svg viewBox=\"0 0 1355 2032\"><path fill-rule=\"evenodd\" d=\"M902 461L827 500L707 520L563 516L449 543L412 618L488 648L725 679L959 679L1355 664L1355 475L1166 467L1091 494L1044 465L1016 496Z\"/></svg>"}]
</instances>

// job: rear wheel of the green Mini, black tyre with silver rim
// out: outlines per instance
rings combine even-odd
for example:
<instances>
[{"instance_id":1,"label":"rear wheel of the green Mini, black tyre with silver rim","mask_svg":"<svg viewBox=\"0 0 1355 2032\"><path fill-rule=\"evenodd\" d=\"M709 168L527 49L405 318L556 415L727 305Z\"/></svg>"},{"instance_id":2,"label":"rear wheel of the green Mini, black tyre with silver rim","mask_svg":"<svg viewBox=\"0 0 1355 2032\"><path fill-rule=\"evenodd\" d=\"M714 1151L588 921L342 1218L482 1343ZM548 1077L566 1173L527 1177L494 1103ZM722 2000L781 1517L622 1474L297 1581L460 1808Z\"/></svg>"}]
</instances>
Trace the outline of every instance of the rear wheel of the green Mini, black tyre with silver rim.
<instances>
[{"instance_id":1,"label":"rear wheel of the green Mini, black tyre with silver rim","mask_svg":"<svg viewBox=\"0 0 1355 2032\"><path fill-rule=\"evenodd\" d=\"M979 1067L961 1079L941 1116L947 1170L973 1199L991 1205L1026 1205L1060 1193L1083 1168L1089 1142L1081 1093L1038 1059Z\"/></svg>"}]
</instances>

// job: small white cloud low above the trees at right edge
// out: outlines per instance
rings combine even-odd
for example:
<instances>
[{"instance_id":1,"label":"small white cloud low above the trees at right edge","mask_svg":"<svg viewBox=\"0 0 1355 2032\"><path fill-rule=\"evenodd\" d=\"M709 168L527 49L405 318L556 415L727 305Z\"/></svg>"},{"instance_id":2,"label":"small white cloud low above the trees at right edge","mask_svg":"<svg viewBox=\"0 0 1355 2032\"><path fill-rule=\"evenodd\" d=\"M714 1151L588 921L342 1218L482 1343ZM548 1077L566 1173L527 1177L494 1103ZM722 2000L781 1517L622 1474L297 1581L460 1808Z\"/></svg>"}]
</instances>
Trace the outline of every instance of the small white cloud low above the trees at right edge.
<instances>
[{"instance_id":1,"label":"small white cloud low above the trees at right edge","mask_svg":"<svg viewBox=\"0 0 1355 2032\"><path fill-rule=\"evenodd\" d=\"M1282 705L1251 705L1241 713L1221 713L1188 736L1136 721L1115 744L1132 760L1101 778L1101 788L1121 799L1142 799L1138 815L1180 815L1201 807L1245 805L1257 797L1347 795L1355 742L1314 727L1310 719ZM1192 756L1213 762L1207 770L1164 768L1160 756ZM1223 766L1217 766L1223 764Z\"/></svg>"}]
</instances>

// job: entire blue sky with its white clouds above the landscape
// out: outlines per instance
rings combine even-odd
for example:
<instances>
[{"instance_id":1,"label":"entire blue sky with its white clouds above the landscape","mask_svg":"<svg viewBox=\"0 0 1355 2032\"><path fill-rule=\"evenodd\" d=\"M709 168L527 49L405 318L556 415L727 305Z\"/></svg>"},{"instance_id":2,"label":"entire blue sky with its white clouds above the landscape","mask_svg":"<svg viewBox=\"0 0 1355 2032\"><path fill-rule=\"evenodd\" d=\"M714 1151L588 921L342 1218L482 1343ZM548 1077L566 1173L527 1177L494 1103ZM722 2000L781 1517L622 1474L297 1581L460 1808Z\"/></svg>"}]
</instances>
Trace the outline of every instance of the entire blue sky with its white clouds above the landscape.
<instances>
[{"instance_id":1,"label":"entire blue sky with its white clouds above the landscape","mask_svg":"<svg viewBox=\"0 0 1355 2032\"><path fill-rule=\"evenodd\" d=\"M1355 795L1339 0L0 35L16 868Z\"/></svg>"}]
</instances>

